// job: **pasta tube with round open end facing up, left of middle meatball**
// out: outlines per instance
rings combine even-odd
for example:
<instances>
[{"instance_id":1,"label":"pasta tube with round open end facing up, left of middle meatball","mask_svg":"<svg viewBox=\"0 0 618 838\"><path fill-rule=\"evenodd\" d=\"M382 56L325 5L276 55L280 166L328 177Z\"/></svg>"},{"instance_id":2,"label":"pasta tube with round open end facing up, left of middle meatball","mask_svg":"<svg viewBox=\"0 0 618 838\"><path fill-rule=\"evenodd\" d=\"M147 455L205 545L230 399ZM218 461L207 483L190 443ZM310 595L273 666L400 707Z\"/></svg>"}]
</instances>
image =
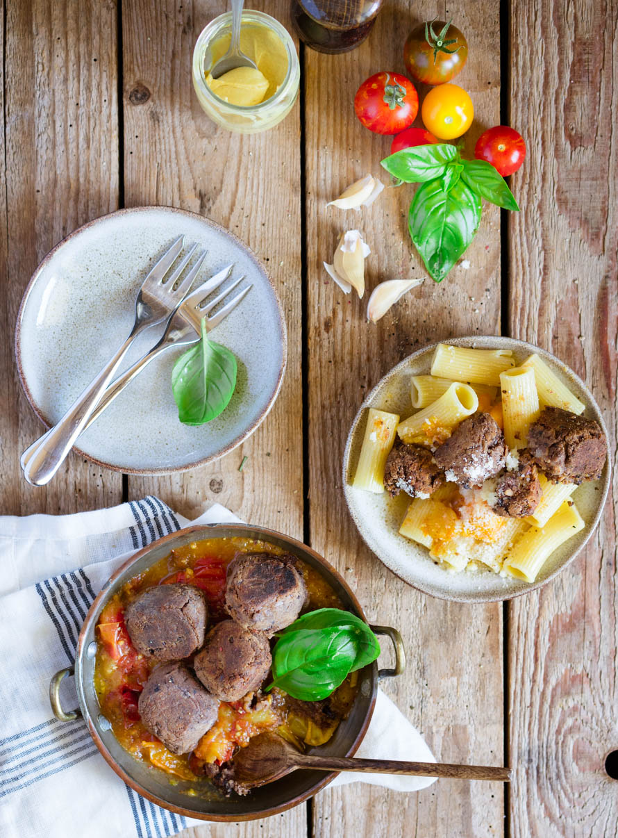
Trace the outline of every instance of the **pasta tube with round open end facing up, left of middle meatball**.
<instances>
[{"instance_id":1,"label":"pasta tube with round open end facing up, left of middle meatball","mask_svg":"<svg viewBox=\"0 0 618 838\"><path fill-rule=\"evenodd\" d=\"M404 442L431 445L444 442L451 430L478 407L478 396L470 385L454 381L439 399L404 419L397 428Z\"/></svg>"}]
</instances>

